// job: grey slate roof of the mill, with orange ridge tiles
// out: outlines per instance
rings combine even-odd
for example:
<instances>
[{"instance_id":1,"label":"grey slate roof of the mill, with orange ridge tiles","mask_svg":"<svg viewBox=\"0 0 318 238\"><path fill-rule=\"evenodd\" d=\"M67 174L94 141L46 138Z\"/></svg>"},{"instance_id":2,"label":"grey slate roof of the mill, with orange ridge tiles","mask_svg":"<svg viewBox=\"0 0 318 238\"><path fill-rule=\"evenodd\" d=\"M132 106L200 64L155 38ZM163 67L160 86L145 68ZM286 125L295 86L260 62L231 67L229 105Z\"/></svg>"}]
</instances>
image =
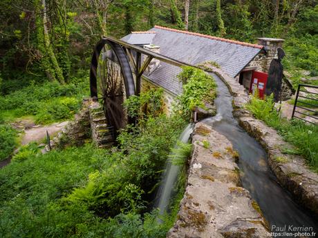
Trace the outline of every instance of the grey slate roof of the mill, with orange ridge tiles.
<instances>
[{"instance_id":1,"label":"grey slate roof of the mill, with orange ridge tiles","mask_svg":"<svg viewBox=\"0 0 318 238\"><path fill-rule=\"evenodd\" d=\"M215 61L231 77L236 77L263 49L263 46L252 43L162 26L155 26L148 32L132 32L122 40L139 46L150 43L160 46L160 54L194 66L205 61ZM147 43L143 43L146 41ZM179 95L182 92L182 85L176 79L179 72L181 72L180 68L160 62L160 67L147 78Z\"/></svg>"}]
</instances>

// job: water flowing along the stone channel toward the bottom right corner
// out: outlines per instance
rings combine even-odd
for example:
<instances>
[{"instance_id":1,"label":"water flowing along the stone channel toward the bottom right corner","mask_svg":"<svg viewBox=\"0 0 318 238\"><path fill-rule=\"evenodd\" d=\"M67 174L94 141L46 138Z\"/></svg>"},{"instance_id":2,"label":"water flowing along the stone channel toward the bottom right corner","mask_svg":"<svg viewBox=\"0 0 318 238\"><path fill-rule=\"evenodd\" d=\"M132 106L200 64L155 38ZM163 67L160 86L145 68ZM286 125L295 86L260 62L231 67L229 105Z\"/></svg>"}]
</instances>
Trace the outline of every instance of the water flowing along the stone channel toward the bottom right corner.
<instances>
[{"instance_id":1,"label":"water flowing along the stone channel toward the bottom right corner","mask_svg":"<svg viewBox=\"0 0 318 238\"><path fill-rule=\"evenodd\" d=\"M219 77L214 74L212 76L218 85L218 97L215 100L217 114L203 122L227 137L238 151L238 166L243 171L243 187L249 190L252 198L257 201L270 227L286 226L286 231L288 226L312 227L318 232L318 222L295 204L290 194L277 184L277 179L268 166L265 150L234 119L232 96L227 86Z\"/></svg>"}]
</instances>

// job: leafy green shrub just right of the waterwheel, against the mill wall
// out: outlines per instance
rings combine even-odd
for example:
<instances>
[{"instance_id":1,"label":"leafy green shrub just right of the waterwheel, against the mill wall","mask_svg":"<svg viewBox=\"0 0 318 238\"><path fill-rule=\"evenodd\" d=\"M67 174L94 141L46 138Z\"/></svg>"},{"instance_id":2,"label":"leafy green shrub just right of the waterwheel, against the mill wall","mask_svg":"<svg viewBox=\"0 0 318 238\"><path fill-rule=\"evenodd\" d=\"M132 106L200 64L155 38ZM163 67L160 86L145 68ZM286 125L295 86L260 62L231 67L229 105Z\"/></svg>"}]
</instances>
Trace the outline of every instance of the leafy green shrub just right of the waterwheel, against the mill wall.
<instances>
[{"instance_id":1,"label":"leafy green shrub just right of the waterwheel, against the mill wall","mask_svg":"<svg viewBox=\"0 0 318 238\"><path fill-rule=\"evenodd\" d=\"M149 115L156 117L162 113L162 94L162 88L152 88L146 92L141 92L140 96L133 95L125 100L124 108L130 117L138 119L146 119Z\"/></svg>"}]
</instances>

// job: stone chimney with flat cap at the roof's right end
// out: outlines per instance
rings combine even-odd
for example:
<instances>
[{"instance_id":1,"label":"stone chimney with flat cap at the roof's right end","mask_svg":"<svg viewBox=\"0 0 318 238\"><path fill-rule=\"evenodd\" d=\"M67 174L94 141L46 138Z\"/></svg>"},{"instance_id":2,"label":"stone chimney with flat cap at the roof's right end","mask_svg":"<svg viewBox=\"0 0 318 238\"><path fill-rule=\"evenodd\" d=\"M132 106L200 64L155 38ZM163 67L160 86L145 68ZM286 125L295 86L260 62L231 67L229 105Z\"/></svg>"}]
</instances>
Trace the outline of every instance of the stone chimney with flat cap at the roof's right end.
<instances>
[{"instance_id":1,"label":"stone chimney with flat cap at the roof's right end","mask_svg":"<svg viewBox=\"0 0 318 238\"><path fill-rule=\"evenodd\" d=\"M276 38L257 38L258 44L264 46L266 57L263 62L263 71L268 72L272 59L277 59L277 48L283 47L283 39Z\"/></svg>"}]
</instances>

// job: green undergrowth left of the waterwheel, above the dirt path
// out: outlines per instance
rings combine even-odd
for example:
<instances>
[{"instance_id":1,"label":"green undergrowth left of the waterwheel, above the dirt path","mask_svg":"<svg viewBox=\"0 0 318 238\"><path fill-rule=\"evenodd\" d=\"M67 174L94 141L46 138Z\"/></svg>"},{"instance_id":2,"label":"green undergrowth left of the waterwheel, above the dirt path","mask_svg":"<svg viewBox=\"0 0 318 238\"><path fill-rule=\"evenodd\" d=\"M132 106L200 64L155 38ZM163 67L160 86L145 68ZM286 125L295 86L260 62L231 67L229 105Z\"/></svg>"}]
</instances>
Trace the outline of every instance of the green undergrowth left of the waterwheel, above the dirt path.
<instances>
[{"instance_id":1,"label":"green undergrowth left of the waterwheel, above the dirt path","mask_svg":"<svg viewBox=\"0 0 318 238\"><path fill-rule=\"evenodd\" d=\"M30 83L19 90L6 88L0 96L0 120L32 116L35 123L46 124L71 119L84 95L88 95L88 86L87 79L77 79L64 85L47 81Z\"/></svg>"}]
</instances>

